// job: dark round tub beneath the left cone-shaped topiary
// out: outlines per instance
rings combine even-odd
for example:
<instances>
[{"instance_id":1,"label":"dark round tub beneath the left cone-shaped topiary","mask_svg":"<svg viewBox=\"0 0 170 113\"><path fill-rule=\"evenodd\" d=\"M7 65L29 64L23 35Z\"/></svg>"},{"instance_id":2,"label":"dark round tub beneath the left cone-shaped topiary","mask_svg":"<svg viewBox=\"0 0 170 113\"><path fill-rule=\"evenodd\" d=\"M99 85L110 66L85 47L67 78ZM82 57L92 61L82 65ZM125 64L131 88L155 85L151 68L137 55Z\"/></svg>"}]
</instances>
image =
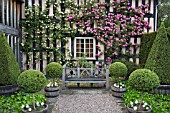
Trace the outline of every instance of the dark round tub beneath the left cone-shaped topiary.
<instances>
[{"instance_id":1,"label":"dark round tub beneath the left cone-shaped topiary","mask_svg":"<svg viewBox=\"0 0 170 113\"><path fill-rule=\"evenodd\" d=\"M18 85L6 85L6 86L0 86L0 95L12 95L15 92L19 91Z\"/></svg>"}]
</instances>

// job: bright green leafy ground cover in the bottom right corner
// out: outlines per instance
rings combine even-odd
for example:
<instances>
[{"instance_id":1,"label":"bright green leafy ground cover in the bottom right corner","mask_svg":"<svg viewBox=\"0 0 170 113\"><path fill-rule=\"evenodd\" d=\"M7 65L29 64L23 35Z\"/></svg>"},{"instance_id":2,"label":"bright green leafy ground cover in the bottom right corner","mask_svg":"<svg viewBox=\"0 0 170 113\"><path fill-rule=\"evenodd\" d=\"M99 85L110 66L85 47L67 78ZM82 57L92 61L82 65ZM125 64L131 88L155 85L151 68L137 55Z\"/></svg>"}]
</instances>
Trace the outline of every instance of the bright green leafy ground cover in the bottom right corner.
<instances>
[{"instance_id":1,"label":"bright green leafy ground cover in the bottom right corner","mask_svg":"<svg viewBox=\"0 0 170 113\"><path fill-rule=\"evenodd\" d=\"M142 92L133 90L126 86L126 92L123 95L125 105L129 106L130 102L140 100ZM145 92L143 101L152 107L152 113L170 113L170 95L149 94Z\"/></svg>"}]
</instances>

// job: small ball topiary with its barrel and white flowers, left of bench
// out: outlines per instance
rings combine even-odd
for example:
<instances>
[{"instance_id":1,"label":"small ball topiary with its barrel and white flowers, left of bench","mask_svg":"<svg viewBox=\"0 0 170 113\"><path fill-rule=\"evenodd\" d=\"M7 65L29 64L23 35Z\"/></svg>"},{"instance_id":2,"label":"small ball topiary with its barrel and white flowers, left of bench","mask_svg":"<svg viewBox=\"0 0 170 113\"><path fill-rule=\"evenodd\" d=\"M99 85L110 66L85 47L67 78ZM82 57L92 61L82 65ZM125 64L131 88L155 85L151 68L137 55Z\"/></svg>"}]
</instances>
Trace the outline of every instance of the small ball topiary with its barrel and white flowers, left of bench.
<instances>
[{"instance_id":1,"label":"small ball topiary with its barrel and white flowers, left of bench","mask_svg":"<svg viewBox=\"0 0 170 113\"><path fill-rule=\"evenodd\" d=\"M51 62L45 68L46 76L51 78L51 81L44 88L46 97L57 97L59 95L59 85L57 79L62 76L62 66L57 62Z\"/></svg>"}]
</instances>

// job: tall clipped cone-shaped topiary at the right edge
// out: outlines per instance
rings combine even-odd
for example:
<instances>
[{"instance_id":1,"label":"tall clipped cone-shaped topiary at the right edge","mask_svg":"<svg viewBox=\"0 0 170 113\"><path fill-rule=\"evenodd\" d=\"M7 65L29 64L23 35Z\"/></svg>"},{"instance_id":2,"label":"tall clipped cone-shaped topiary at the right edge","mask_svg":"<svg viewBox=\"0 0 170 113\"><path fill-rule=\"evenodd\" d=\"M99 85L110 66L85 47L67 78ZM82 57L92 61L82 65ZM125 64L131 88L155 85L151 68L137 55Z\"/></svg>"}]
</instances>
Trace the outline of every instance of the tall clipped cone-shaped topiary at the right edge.
<instances>
[{"instance_id":1,"label":"tall clipped cone-shaped topiary at the right edge","mask_svg":"<svg viewBox=\"0 0 170 113\"><path fill-rule=\"evenodd\" d=\"M159 76L161 84L170 84L170 42L164 23L161 24L158 30L145 68L154 71Z\"/></svg>"}]
</instances>

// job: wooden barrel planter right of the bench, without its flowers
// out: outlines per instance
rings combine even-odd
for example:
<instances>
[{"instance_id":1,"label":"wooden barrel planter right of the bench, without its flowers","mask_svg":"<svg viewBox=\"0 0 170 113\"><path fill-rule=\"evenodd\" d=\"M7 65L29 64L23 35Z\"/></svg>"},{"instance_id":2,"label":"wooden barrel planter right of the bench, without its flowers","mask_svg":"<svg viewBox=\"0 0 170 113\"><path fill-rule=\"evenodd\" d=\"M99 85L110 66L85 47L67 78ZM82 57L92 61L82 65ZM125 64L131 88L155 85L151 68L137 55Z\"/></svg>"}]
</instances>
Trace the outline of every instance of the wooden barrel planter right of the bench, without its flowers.
<instances>
[{"instance_id":1,"label":"wooden barrel planter right of the bench, without its flowers","mask_svg":"<svg viewBox=\"0 0 170 113\"><path fill-rule=\"evenodd\" d=\"M122 95L126 92L126 88L116 88L111 86L112 95L115 97L122 97Z\"/></svg>"}]
</instances>

